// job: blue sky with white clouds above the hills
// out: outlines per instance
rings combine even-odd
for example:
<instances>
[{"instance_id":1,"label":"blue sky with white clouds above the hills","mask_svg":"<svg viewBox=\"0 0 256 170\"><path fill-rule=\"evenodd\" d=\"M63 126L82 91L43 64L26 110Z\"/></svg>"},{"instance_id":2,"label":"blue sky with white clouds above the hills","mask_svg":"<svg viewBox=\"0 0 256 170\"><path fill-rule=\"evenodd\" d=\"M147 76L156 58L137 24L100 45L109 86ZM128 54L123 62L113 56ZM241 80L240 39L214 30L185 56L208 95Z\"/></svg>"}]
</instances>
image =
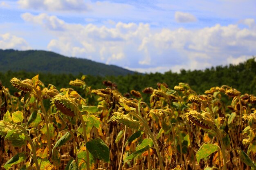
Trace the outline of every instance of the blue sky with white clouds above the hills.
<instances>
[{"instance_id":1,"label":"blue sky with white clouds above the hills","mask_svg":"<svg viewBox=\"0 0 256 170\"><path fill-rule=\"evenodd\" d=\"M238 64L256 56L256 0L0 0L0 49L141 73Z\"/></svg>"}]
</instances>

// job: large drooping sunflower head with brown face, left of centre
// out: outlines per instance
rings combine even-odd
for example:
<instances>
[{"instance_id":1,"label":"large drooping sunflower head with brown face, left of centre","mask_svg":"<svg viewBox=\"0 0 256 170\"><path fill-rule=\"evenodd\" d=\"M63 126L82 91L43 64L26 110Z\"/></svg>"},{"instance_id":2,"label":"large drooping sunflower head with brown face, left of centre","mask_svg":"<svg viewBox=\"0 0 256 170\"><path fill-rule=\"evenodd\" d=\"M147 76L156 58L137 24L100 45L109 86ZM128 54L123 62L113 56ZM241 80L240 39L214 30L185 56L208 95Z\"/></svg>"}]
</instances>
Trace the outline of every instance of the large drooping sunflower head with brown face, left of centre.
<instances>
[{"instance_id":1,"label":"large drooping sunflower head with brown face, left of centre","mask_svg":"<svg viewBox=\"0 0 256 170\"><path fill-rule=\"evenodd\" d=\"M68 98L65 95L56 95L52 99L52 104L56 106L63 114L67 116L75 116L79 113L79 107L74 99Z\"/></svg>"}]
</instances>

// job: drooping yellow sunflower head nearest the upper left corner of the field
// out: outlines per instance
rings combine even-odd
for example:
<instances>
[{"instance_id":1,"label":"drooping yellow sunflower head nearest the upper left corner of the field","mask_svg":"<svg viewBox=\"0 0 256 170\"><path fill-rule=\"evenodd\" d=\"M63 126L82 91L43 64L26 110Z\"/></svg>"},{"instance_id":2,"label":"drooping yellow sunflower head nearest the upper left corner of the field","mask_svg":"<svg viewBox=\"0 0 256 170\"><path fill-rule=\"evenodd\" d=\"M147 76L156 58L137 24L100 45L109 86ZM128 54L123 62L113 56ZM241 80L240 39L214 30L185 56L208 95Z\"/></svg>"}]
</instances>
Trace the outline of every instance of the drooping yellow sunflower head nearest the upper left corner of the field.
<instances>
[{"instance_id":1,"label":"drooping yellow sunflower head nearest the upper left corner of the field","mask_svg":"<svg viewBox=\"0 0 256 170\"><path fill-rule=\"evenodd\" d=\"M16 77L10 80L11 85L21 91L32 91L33 84L30 79L20 80Z\"/></svg>"}]
</instances>

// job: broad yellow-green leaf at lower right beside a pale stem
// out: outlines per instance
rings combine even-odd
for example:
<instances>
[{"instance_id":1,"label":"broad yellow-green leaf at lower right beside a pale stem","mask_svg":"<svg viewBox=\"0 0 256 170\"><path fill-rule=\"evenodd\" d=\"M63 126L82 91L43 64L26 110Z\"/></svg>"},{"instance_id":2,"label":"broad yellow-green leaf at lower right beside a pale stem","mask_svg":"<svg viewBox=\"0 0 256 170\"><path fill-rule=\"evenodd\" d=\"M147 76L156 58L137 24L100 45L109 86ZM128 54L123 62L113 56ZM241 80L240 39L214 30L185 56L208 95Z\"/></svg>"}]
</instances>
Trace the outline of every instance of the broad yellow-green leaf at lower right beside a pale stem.
<instances>
[{"instance_id":1,"label":"broad yellow-green leaf at lower right beside a pale stem","mask_svg":"<svg viewBox=\"0 0 256 170\"><path fill-rule=\"evenodd\" d=\"M202 144L202 146L199 148L198 152L195 155L196 160L199 163L199 161L202 158L208 157L212 153L216 152L218 149L219 149L218 146L216 146L214 144L204 143L204 144Z\"/></svg>"}]
</instances>

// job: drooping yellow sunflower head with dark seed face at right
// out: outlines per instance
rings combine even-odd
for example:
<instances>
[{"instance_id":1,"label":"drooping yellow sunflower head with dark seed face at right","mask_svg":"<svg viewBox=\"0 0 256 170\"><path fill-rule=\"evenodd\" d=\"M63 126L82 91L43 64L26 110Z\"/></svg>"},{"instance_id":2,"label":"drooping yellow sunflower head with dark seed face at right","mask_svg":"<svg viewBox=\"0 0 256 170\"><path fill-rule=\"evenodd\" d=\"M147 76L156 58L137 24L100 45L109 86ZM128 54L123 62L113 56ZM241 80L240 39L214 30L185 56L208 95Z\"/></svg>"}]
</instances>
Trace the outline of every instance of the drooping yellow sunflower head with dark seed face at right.
<instances>
[{"instance_id":1,"label":"drooping yellow sunflower head with dark seed face at right","mask_svg":"<svg viewBox=\"0 0 256 170\"><path fill-rule=\"evenodd\" d=\"M206 112L198 113L196 110L190 110L189 113L185 114L185 117L193 122L195 125L205 128L205 129L214 129L214 122L206 116Z\"/></svg>"}]
</instances>

